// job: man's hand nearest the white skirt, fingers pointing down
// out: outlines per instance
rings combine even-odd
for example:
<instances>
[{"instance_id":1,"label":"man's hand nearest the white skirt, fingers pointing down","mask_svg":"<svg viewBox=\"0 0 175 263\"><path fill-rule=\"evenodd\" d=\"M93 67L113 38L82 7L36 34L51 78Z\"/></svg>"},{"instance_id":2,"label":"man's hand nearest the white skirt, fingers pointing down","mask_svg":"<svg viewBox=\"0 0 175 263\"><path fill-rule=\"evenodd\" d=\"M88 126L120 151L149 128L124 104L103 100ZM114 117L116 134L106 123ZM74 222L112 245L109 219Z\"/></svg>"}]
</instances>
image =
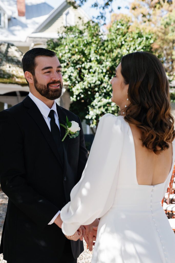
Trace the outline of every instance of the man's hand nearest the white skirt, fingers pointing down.
<instances>
[{"instance_id":1,"label":"man's hand nearest the white skirt, fingers pointing down","mask_svg":"<svg viewBox=\"0 0 175 263\"><path fill-rule=\"evenodd\" d=\"M92 224L84 226L86 229L86 233L84 235L84 240L87 243L87 248L89 247L89 251L92 251L92 246L95 244L93 241L96 240L97 231L93 230L93 226L98 226L99 219L96 219Z\"/></svg>"}]
</instances>

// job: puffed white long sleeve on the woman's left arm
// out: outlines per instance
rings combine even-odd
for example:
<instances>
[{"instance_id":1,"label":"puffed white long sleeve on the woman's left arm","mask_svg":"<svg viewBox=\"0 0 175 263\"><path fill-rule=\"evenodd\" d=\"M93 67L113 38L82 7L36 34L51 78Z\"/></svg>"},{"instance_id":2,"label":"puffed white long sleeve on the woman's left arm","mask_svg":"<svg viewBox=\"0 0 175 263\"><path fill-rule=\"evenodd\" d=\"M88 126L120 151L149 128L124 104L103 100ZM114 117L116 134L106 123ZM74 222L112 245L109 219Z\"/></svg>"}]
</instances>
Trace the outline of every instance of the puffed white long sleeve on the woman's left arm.
<instances>
[{"instance_id":1,"label":"puffed white long sleeve on the woman's left arm","mask_svg":"<svg viewBox=\"0 0 175 263\"><path fill-rule=\"evenodd\" d=\"M91 224L113 204L123 148L122 120L121 116L105 114L99 121L82 177L71 191L71 201L61 210L65 235Z\"/></svg>"}]
</instances>

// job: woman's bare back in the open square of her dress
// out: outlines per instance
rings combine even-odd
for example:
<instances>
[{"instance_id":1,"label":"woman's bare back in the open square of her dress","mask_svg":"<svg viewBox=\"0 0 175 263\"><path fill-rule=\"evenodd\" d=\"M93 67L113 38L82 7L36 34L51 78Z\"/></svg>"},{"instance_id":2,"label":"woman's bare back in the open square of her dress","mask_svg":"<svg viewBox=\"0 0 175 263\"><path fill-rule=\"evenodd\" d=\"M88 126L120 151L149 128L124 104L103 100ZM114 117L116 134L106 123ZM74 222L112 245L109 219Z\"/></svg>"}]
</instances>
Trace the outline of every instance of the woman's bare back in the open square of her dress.
<instances>
[{"instance_id":1,"label":"woman's bare back in the open square of her dress","mask_svg":"<svg viewBox=\"0 0 175 263\"><path fill-rule=\"evenodd\" d=\"M169 149L155 154L142 146L141 130L129 124L135 145L137 182L140 185L156 185L164 183L172 165L172 144Z\"/></svg>"}]
</instances>

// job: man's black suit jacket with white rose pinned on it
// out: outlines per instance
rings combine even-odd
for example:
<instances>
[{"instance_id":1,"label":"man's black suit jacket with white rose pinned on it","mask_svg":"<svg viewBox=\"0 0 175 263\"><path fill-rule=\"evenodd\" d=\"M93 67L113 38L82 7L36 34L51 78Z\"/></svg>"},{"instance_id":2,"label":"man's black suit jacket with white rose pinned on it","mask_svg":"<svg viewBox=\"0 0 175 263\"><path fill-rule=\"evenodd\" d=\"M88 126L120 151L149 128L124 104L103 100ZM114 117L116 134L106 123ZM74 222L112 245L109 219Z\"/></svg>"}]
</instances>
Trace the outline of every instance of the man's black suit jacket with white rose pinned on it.
<instances>
[{"instance_id":1,"label":"man's black suit jacket with white rose pinned on it","mask_svg":"<svg viewBox=\"0 0 175 263\"><path fill-rule=\"evenodd\" d=\"M80 119L57 105L59 122L76 121L79 136L62 142L63 159L36 104L27 96L23 102L0 112L0 179L8 196L0 253L16 263L58 262L65 236L54 215L70 201L70 192L81 178L87 150ZM61 129L61 138L65 129ZM73 256L83 251L72 241Z\"/></svg>"}]
</instances>

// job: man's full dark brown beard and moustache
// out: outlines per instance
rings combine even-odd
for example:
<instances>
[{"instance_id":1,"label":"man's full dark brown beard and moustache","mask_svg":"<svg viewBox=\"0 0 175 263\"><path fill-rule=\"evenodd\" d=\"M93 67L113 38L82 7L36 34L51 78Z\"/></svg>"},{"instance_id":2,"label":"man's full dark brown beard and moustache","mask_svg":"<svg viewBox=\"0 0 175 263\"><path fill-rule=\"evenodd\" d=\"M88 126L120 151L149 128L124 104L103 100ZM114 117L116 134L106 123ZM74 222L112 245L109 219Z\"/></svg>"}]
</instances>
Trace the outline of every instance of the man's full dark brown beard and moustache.
<instances>
[{"instance_id":1,"label":"man's full dark brown beard and moustache","mask_svg":"<svg viewBox=\"0 0 175 263\"><path fill-rule=\"evenodd\" d=\"M50 100L60 98L61 93L62 93L63 83L61 83L59 80L50 82L47 85L38 83L35 76L33 76L33 80L34 80L35 89L39 92L39 94L41 96L43 96L47 99L50 99ZM54 84L60 84L60 87L59 88L53 88L53 90L51 90L49 88L49 85L54 85Z\"/></svg>"}]
</instances>

